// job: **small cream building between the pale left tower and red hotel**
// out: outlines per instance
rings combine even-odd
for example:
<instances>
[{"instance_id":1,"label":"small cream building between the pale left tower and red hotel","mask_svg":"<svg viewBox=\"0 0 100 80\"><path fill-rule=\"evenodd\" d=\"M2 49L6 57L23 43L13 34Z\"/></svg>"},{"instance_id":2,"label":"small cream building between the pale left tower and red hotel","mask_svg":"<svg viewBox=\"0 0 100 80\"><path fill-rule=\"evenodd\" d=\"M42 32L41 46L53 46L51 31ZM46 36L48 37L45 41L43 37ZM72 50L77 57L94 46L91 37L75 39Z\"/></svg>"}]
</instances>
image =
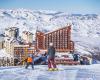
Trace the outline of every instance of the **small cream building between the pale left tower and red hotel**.
<instances>
[{"instance_id":1,"label":"small cream building between the pale left tower and red hotel","mask_svg":"<svg viewBox=\"0 0 100 80\"><path fill-rule=\"evenodd\" d=\"M23 31L22 39L26 43L33 43L33 34L31 32L29 32L29 31Z\"/></svg>"}]
</instances>

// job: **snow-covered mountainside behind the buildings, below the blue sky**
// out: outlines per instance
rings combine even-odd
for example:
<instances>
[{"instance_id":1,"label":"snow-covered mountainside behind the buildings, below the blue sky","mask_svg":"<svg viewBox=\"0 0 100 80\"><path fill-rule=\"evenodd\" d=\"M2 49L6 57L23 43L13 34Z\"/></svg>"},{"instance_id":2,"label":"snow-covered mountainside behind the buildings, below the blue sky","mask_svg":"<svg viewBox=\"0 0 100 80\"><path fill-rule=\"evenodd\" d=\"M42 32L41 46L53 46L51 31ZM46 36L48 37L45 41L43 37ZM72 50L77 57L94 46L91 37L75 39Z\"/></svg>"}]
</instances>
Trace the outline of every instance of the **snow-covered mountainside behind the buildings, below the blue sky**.
<instances>
[{"instance_id":1,"label":"snow-covered mountainside behind the buildings, below the blue sky","mask_svg":"<svg viewBox=\"0 0 100 80\"><path fill-rule=\"evenodd\" d=\"M19 27L20 35L24 30L33 34L37 27L44 32L52 31L67 24L72 25L72 40L76 51L99 53L100 51L100 15L68 14L67 12L27 9L0 9L0 34L7 27ZM100 53L99 53L100 54Z\"/></svg>"}]
</instances>

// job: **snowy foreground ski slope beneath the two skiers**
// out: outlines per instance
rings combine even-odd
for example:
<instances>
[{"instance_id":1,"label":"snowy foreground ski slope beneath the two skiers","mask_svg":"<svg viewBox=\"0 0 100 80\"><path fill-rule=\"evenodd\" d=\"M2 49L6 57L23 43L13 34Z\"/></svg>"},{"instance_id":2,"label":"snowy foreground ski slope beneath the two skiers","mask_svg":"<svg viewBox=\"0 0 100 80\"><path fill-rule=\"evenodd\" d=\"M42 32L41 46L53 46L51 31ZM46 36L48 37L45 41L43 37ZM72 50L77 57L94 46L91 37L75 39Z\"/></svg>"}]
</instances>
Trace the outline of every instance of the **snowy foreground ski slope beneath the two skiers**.
<instances>
[{"instance_id":1,"label":"snowy foreground ski slope beneath the two skiers","mask_svg":"<svg viewBox=\"0 0 100 80\"><path fill-rule=\"evenodd\" d=\"M59 71L47 71L47 65L35 65L35 69L0 67L0 80L100 80L100 64L58 65Z\"/></svg>"}]
</instances>

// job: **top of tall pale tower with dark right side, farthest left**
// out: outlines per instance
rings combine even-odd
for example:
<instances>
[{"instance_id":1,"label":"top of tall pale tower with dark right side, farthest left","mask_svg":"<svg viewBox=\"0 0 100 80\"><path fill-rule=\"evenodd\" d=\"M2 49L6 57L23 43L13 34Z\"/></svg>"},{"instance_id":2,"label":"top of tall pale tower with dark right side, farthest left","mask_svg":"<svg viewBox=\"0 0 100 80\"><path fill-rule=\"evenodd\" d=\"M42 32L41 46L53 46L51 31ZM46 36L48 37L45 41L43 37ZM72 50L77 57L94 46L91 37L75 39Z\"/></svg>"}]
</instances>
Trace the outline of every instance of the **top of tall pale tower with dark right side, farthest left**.
<instances>
[{"instance_id":1,"label":"top of tall pale tower with dark right side, farthest left","mask_svg":"<svg viewBox=\"0 0 100 80\"><path fill-rule=\"evenodd\" d=\"M10 27L5 29L5 36L10 38L17 38L19 36L19 28Z\"/></svg>"}]
</instances>

